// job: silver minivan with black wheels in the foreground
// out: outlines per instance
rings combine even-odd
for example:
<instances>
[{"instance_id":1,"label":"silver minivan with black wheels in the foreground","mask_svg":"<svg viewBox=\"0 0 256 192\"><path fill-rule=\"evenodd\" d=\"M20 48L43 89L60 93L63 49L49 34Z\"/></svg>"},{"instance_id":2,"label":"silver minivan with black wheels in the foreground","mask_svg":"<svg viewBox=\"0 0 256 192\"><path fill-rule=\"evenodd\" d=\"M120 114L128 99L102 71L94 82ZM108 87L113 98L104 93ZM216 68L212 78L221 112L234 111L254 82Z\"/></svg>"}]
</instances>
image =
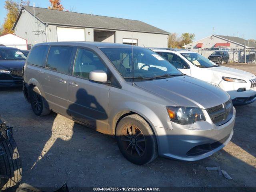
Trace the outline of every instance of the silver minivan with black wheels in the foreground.
<instances>
[{"instance_id":1,"label":"silver minivan with black wheels in the foreground","mask_svg":"<svg viewBox=\"0 0 256 192\"><path fill-rule=\"evenodd\" d=\"M226 92L184 76L137 46L37 44L24 67L24 95L38 116L52 110L115 135L122 154L135 164L158 154L200 160L233 135L235 109Z\"/></svg>"}]
</instances>

